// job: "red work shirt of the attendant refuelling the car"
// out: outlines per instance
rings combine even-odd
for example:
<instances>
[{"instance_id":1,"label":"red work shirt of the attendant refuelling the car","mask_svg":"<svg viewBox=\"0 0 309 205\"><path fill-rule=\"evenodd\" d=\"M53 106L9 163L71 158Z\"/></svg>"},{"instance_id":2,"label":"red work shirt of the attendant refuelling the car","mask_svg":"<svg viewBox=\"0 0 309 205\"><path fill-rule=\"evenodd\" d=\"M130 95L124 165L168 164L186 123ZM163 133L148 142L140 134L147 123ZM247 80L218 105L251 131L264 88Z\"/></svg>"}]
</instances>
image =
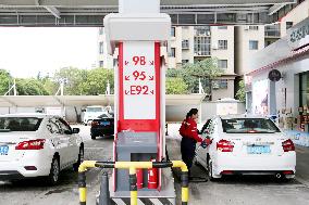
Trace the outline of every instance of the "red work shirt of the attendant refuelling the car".
<instances>
[{"instance_id":1,"label":"red work shirt of the attendant refuelling the car","mask_svg":"<svg viewBox=\"0 0 309 205\"><path fill-rule=\"evenodd\" d=\"M202 142L202 139L198 136L198 132L197 132L197 124L190 117L183 120L180 132L183 133L182 136L185 138L191 138L197 142Z\"/></svg>"}]
</instances>

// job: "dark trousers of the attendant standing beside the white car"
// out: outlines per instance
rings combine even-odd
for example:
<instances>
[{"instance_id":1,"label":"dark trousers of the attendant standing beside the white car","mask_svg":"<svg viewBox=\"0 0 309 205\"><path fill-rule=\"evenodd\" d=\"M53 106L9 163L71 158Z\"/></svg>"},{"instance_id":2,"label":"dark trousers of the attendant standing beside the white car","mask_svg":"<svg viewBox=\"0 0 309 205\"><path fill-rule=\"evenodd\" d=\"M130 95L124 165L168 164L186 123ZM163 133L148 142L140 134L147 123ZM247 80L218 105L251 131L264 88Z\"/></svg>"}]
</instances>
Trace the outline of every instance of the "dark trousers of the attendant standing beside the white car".
<instances>
[{"instance_id":1,"label":"dark trousers of the attendant standing beside the white car","mask_svg":"<svg viewBox=\"0 0 309 205\"><path fill-rule=\"evenodd\" d=\"M190 175L190 168L193 166L193 159L195 156L196 141L191 138L183 137L181 143L182 158L187 165Z\"/></svg>"}]
</instances>

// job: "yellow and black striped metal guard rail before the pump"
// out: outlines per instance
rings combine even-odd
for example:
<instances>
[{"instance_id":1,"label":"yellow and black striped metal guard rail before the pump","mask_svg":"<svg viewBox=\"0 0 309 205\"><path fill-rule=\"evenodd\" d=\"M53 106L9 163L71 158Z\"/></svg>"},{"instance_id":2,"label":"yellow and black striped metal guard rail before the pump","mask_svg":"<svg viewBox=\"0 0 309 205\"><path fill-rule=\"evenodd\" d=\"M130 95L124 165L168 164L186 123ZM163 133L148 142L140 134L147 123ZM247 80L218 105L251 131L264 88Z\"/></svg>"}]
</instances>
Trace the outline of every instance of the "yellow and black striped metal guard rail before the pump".
<instances>
[{"instance_id":1,"label":"yellow and black striped metal guard rail before the pump","mask_svg":"<svg viewBox=\"0 0 309 205\"><path fill-rule=\"evenodd\" d=\"M188 204L188 169L182 161L171 162L97 162L85 161L78 168L78 189L79 189L79 205L86 205L87 188L86 188L86 169L87 168L116 168L129 170L129 192L131 192L131 205L137 205L137 178L136 169L149 169L149 168L169 168L178 167L182 169L182 205Z\"/></svg>"}]
</instances>

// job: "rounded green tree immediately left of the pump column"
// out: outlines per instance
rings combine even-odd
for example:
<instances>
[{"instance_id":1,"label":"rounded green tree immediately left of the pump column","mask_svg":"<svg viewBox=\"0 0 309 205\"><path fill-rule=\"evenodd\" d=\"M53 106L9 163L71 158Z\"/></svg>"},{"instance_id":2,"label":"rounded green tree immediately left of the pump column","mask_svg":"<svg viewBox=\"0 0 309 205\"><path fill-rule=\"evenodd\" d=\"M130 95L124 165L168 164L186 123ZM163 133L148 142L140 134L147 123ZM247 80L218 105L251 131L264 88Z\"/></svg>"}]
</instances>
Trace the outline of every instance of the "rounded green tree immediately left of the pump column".
<instances>
[{"instance_id":1,"label":"rounded green tree immediately left of the pump column","mask_svg":"<svg viewBox=\"0 0 309 205\"><path fill-rule=\"evenodd\" d=\"M82 82L81 90L84 94L104 94L107 85L110 82L111 92L114 88L113 69L95 68L88 72L87 79Z\"/></svg>"}]
</instances>

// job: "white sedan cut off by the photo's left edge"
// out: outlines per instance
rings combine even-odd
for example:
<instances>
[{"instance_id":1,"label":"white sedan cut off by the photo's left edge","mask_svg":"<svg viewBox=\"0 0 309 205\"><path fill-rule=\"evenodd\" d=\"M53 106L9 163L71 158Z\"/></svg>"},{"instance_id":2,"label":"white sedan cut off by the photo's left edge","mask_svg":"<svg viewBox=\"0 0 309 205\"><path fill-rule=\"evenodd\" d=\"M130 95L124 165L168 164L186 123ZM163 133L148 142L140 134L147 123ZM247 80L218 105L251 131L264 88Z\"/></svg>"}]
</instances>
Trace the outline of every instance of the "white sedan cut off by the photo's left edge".
<instances>
[{"instance_id":1,"label":"white sedan cut off by the photo's left edge","mask_svg":"<svg viewBox=\"0 0 309 205\"><path fill-rule=\"evenodd\" d=\"M47 176L55 184L60 170L84 159L78 132L58 116L0 115L0 180Z\"/></svg>"}]
</instances>

